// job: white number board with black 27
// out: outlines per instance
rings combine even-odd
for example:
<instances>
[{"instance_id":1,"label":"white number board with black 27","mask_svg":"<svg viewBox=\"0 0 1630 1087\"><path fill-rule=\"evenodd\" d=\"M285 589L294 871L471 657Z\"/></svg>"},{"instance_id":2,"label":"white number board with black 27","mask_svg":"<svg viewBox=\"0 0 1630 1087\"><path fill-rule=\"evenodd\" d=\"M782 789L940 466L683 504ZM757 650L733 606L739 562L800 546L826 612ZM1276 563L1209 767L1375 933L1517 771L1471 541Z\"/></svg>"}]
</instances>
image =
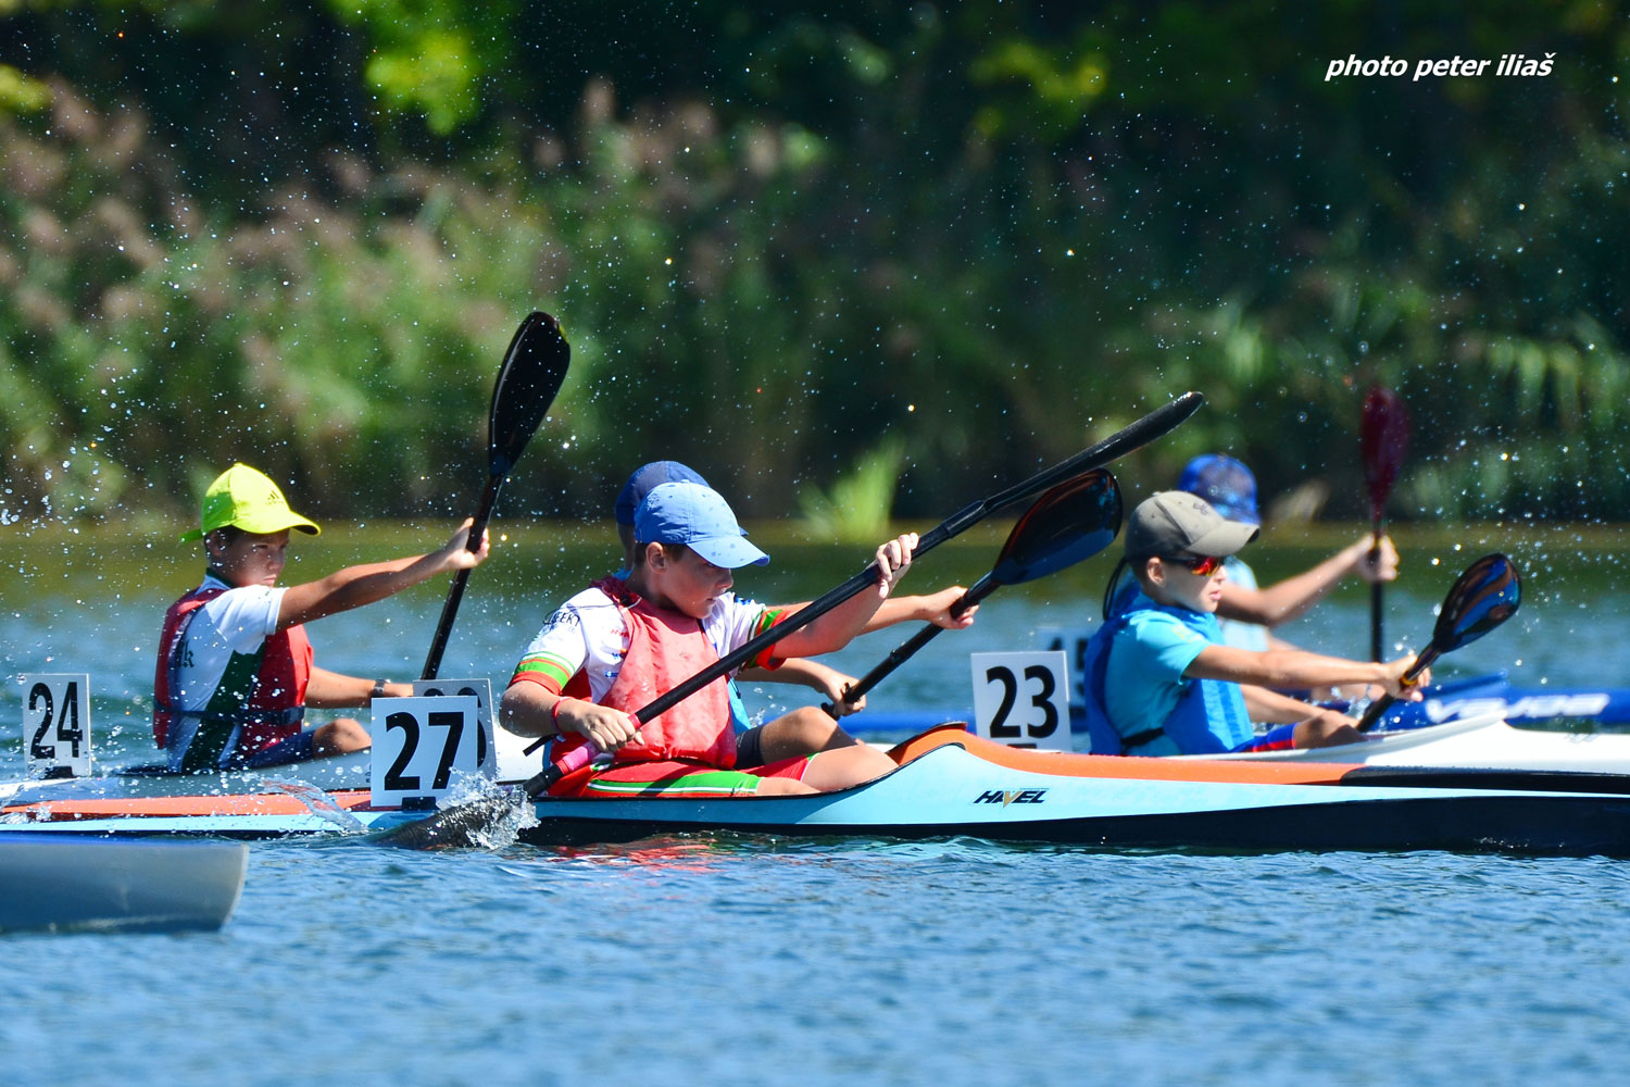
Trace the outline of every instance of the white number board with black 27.
<instances>
[{"instance_id":1,"label":"white number board with black 27","mask_svg":"<svg viewBox=\"0 0 1630 1087\"><path fill-rule=\"evenodd\" d=\"M458 776L494 779L491 686L486 680L414 683L414 698L373 699L375 807L429 807Z\"/></svg>"}]
</instances>

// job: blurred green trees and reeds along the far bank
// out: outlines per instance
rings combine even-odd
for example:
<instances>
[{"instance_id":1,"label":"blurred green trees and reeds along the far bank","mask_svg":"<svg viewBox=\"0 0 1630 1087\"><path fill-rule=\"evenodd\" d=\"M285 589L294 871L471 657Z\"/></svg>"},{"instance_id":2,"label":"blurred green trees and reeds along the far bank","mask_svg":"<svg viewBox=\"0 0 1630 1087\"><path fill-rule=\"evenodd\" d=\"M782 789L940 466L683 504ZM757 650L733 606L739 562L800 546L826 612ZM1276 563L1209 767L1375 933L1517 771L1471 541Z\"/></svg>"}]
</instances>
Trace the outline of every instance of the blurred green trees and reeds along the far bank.
<instances>
[{"instance_id":1,"label":"blurred green trees and reeds along the far bank","mask_svg":"<svg viewBox=\"0 0 1630 1087\"><path fill-rule=\"evenodd\" d=\"M1511 52L1550 75L1325 80ZM0 520L238 458L465 512L531 308L574 360L510 510L675 456L944 513L1196 388L1123 476L1358 517L1386 381L1397 512L1619 518L1627 57L1612 0L0 0Z\"/></svg>"}]
</instances>

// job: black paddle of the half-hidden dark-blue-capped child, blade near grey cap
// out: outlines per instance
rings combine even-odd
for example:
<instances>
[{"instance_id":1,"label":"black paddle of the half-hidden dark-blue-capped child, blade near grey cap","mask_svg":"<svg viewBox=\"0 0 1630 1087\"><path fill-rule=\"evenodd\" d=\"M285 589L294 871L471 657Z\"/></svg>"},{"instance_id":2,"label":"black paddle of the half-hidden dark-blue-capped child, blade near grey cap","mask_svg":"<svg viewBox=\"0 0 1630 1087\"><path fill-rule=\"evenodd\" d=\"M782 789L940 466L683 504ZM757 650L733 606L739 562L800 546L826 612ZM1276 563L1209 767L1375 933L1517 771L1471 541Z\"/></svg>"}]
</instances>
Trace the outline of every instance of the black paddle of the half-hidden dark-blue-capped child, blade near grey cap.
<instances>
[{"instance_id":1,"label":"black paddle of the half-hidden dark-blue-capped child, blade near grey cap","mask_svg":"<svg viewBox=\"0 0 1630 1087\"><path fill-rule=\"evenodd\" d=\"M1061 482L1035 500L1002 544L991 572L973 583L957 603L952 616L980 603L1002 585L1022 585L1046 577L1089 559L1115 543L1121 523L1120 484L1104 468L1095 468L1069 482ZM861 701L900 665L916 655L945 629L932 623L888 654L880 665L844 689L843 701L849 706ZM838 719L838 707L823 702L822 709Z\"/></svg>"}]
</instances>

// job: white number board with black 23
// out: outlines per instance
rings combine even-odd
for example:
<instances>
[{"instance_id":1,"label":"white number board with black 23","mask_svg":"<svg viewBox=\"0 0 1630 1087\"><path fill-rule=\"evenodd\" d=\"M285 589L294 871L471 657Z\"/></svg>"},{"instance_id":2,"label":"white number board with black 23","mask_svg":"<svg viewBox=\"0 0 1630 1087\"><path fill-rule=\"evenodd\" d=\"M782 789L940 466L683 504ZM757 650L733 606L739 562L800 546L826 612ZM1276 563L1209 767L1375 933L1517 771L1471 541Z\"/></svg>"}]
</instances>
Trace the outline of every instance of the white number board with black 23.
<instances>
[{"instance_id":1,"label":"white number board with black 23","mask_svg":"<svg viewBox=\"0 0 1630 1087\"><path fill-rule=\"evenodd\" d=\"M1069 751L1069 665L1061 650L970 654L973 724L1014 748Z\"/></svg>"}]
</instances>

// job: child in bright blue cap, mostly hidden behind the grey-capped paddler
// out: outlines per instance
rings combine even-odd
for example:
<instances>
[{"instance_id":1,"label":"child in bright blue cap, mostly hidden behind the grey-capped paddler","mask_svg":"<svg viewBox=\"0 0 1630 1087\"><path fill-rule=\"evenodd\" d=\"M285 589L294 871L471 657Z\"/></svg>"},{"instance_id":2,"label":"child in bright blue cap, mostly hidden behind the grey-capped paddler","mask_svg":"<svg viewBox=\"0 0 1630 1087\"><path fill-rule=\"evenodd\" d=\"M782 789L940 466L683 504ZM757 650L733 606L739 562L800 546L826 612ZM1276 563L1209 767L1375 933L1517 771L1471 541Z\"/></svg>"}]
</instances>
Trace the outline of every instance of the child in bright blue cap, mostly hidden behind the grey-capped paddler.
<instances>
[{"instance_id":1,"label":"child in bright blue cap, mostly hidden behind the grey-capped paddler","mask_svg":"<svg viewBox=\"0 0 1630 1087\"><path fill-rule=\"evenodd\" d=\"M1262 515L1257 512L1257 477L1232 456L1222 453L1196 456L1183 468L1177 489L1200 495L1231 521L1252 528L1262 525ZM1387 536L1381 538L1377 552L1372 538L1366 535L1319 566L1275 582L1268 588L1257 585L1257 574L1237 554L1227 556L1224 566L1227 582L1222 583L1222 600L1218 605L1222 642L1253 650L1296 649L1275 637L1271 629L1304 614L1348 574L1356 574L1371 585L1395 580L1399 552Z\"/></svg>"}]
</instances>

